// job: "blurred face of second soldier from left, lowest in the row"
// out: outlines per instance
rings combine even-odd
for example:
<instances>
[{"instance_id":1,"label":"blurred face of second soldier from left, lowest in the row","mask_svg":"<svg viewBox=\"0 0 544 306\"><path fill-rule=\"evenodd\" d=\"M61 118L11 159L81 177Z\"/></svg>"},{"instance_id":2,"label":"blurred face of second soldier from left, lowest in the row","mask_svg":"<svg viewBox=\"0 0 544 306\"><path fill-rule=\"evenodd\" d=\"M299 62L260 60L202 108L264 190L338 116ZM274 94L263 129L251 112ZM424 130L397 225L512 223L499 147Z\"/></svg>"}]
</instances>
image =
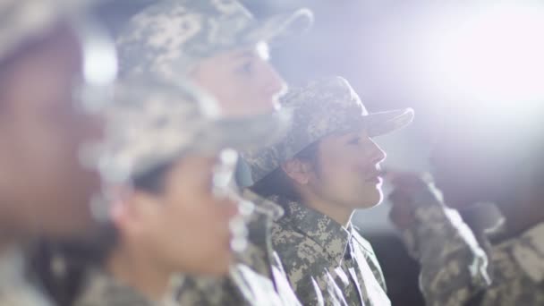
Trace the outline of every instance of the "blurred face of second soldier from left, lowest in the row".
<instances>
[{"instance_id":1,"label":"blurred face of second soldier from left, lowest in the row","mask_svg":"<svg viewBox=\"0 0 544 306\"><path fill-rule=\"evenodd\" d=\"M172 272L225 275L232 260L229 223L232 200L213 194L213 157L183 157L166 176L158 195L137 191L132 233Z\"/></svg>"}]
</instances>

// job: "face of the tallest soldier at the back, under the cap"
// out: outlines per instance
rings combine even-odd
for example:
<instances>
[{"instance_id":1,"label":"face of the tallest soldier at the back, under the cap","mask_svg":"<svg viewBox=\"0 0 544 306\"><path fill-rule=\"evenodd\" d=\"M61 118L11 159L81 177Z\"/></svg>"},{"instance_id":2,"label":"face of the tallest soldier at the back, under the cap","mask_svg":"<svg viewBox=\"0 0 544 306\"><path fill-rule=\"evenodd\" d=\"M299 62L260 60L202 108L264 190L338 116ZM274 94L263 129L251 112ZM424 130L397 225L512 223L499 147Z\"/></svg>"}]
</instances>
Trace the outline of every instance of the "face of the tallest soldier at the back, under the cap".
<instances>
[{"instance_id":1,"label":"face of the tallest soldier at the back, under the cap","mask_svg":"<svg viewBox=\"0 0 544 306\"><path fill-rule=\"evenodd\" d=\"M201 61L192 80L212 94L225 115L244 116L276 110L285 81L268 63L265 43Z\"/></svg>"}]
</instances>

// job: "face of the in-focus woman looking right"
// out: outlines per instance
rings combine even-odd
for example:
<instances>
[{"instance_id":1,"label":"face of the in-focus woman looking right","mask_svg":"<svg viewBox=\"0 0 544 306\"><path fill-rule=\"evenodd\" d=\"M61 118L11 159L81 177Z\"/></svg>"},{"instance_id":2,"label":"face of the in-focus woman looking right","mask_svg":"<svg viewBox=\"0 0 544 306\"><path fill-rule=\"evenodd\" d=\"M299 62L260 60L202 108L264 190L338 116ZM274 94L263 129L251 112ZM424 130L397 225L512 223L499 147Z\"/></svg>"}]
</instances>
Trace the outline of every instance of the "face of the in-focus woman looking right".
<instances>
[{"instance_id":1,"label":"face of the in-focus woman looking right","mask_svg":"<svg viewBox=\"0 0 544 306\"><path fill-rule=\"evenodd\" d=\"M329 135L319 141L319 154L308 186L323 200L345 208L369 208L383 198L379 163L386 154L367 132Z\"/></svg>"}]
</instances>

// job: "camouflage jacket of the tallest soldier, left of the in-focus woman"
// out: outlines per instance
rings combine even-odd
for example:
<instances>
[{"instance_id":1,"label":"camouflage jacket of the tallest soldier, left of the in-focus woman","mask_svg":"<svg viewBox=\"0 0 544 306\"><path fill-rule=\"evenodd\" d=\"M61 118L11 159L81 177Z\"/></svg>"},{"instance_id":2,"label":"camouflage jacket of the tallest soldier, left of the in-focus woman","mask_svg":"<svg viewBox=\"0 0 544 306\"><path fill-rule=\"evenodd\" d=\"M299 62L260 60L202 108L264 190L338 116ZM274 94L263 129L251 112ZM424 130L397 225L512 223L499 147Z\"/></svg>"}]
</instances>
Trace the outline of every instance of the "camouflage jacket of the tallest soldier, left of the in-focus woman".
<instances>
[{"instance_id":1,"label":"camouflage jacket of the tallest soldier, left of the in-focus woman","mask_svg":"<svg viewBox=\"0 0 544 306\"><path fill-rule=\"evenodd\" d=\"M238 254L228 277L184 276L180 305L300 305L270 242L272 221L283 215L282 209L251 191L242 196L256 204L247 220L247 249Z\"/></svg>"}]
</instances>

